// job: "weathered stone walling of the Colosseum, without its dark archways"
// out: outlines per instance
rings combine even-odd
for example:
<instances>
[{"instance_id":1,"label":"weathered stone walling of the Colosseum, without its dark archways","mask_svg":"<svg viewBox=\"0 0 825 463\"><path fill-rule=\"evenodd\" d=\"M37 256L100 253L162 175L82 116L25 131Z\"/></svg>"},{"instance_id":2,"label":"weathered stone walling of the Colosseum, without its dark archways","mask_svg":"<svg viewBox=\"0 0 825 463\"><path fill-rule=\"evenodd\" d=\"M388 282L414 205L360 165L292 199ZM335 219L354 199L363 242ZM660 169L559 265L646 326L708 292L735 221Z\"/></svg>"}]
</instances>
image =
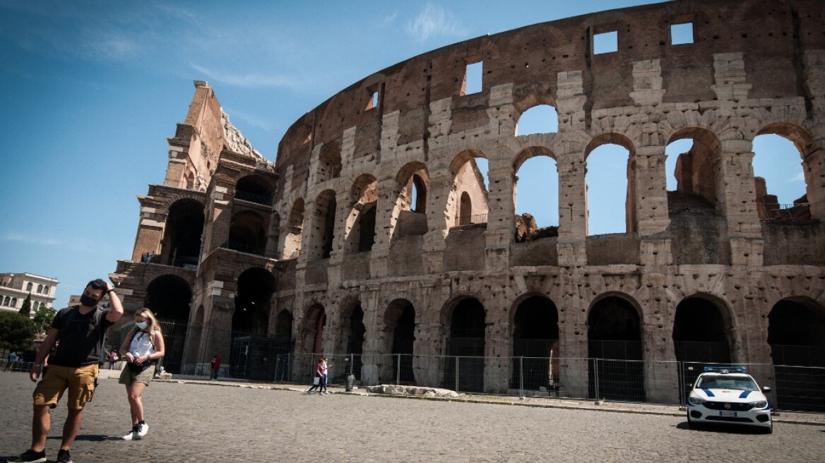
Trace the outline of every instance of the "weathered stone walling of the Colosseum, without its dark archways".
<instances>
[{"instance_id":1,"label":"weathered stone walling of the Colosseum, without its dark archways","mask_svg":"<svg viewBox=\"0 0 825 463\"><path fill-rule=\"evenodd\" d=\"M731 361L770 363L773 306L785 299L825 306L823 14L818 0L678 0L483 36L375 72L310 110L281 140L268 177L271 242L262 256L230 258L234 251L220 243L238 210L234 183L272 166L251 147L238 154L211 142L215 133L227 138L223 128L192 132L192 120L203 115L221 120L211 90L199 86L186 124L170 139L166 179L197 190L197 175L186 183L187 169L208 174L198 196L206 226L190 278L191 322L231 325L239 275L268 269L277 282L269 329L290 311L299 352L318 350L320 339L324 352L342 353L348 311L360 304L361 380L369 384L392 367L385 354L394 304L414 307L413 352L443 355L453 311L474 298L484 307L489 358L483 390L500 392L511 374L514 314L540 296L558 314L563 384L586 395L587 366L577 359L588 356L588 315L605 297L620 297L638 311L643 359L651 361L647 398L672 401L677 372L665 362L676 360L676 307L700 298L724 320ZM693 43L672 44L670 26L681 23L691 23ZM609 31L618 34L618 51L594 54L593 35ZM478 61L482 90L464 95L466 65ZM379 103L371 106L376 91ZM558 132L517 136L521 115L541 104L557 111ZM799 149L805 221L760 219L752 141L765 133ZM677 162L678 189L667 191L665 147L680 139L693 147ZM628 170L615 173L627 177L627 232L588 236L588 155L606 143L629 152ZM212 162L215 152L220 160ZM516 243L517 172L535 156L556 161L558 173L549 175L559 179L558 237ZM479 157L488 160L486 186ZM410 218L413 175L426 202ZM455 227L463 192L486 222ZM141 199L145 223L133 259L157 243L162 202L158 194ZM353 252L370 207L375 242ZM316 248L333 212L327 258ZM417 381L444 381L443 365L416 362L416 374L427 376ZM770 372L757 375L770 380Z\"/></svg>"}]
</instances>

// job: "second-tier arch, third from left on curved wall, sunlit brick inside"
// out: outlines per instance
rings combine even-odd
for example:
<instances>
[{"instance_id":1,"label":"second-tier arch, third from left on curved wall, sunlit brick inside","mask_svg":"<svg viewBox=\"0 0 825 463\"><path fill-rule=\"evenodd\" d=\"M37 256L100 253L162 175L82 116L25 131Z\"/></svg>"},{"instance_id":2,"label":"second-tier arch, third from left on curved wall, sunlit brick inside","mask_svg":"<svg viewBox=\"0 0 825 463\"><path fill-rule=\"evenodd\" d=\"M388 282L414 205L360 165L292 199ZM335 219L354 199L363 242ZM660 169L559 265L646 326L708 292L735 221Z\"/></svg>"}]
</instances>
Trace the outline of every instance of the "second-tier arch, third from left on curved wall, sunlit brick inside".
<instances>
[{"instance_id":1,"label":"second-tier arch, third from left on curved wall, sunlit brick inside","mask_svg":"<svg viewBox=\"0 0 825 463\"><path fill-rule=\"evenodd\" d=\"M345 253L372 250L375 244L375 214L378 181L370 174L359 175L350 190L352 208L347 215Z\"/></svg>"}]
</instances>

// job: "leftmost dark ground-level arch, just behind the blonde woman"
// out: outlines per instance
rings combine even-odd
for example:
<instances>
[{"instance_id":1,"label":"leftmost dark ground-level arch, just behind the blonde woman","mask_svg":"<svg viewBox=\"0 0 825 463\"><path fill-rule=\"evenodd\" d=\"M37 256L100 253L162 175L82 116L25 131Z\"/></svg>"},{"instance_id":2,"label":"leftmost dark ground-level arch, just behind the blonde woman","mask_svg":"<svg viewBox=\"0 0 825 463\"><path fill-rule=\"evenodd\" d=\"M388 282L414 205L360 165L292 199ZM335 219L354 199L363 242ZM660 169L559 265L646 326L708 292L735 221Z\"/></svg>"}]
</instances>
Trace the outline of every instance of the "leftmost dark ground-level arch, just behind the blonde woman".
<instances>
[{"instance_id":1,"label":"leftmost dark ground-level arch, just behind the blonde woman","mask_svg":"<svg viewBox=\"0 0 825 463\"><path fill-rule=\"evenodd\" d=\"M153 311L163 330L166 355L163 366L168 372L180 373L189 324L192 290L189 283L176 275L163 275L146 288L144 307Z\"/></svg>"}]
</instances>

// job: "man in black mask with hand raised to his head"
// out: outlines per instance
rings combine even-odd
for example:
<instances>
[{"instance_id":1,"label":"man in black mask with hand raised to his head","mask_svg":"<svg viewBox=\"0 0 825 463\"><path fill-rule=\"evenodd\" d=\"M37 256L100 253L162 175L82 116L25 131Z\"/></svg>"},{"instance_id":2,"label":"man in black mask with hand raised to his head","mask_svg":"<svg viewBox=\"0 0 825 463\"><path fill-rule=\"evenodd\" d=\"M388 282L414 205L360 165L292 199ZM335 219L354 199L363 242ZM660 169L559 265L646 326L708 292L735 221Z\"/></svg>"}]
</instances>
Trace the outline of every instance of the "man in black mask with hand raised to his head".
<instances>
[{"instance_id":1,"label":"man in black mask with hand raised to his head","mask_svg":"<svg viewBox=\"0 0 825 463\"><path fill-rule=\"evenodd\" d=\"M109 295L110 308L98 304ZM63 428L57 461L71 462L69 449L80 431L83 406L92 400L97 380L97 365L101 362L106 330L123 316L123 305L115 288L101 279L89 282L80 297L80 305L66 307L52 320L49 334L37 351L29 376L37 381L40 367L49 356L49 369L35 387L34 419L31 422L31 448L10 462L46 461L46 436L51 426L50 409L68 390L68 416ZM54 352L52 348L57 344Z\"/></svg>"}]
</instances>

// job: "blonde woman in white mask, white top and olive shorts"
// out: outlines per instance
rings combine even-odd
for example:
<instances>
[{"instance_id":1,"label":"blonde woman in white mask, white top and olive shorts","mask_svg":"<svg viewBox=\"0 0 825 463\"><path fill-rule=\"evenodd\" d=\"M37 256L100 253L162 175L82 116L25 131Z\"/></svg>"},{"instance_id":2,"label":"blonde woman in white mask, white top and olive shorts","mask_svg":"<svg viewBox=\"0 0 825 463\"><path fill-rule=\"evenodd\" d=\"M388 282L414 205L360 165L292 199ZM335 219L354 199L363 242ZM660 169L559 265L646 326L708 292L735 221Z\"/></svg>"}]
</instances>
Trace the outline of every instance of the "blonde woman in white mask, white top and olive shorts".
<instances>
[{"instance_id":1,"label":"blonde woman in white mask, white top and olive shorts","mask_svg":"<svg viewBox=\"0 0 825 463\"><path fill-rule=\"evenodd\" d=\"M126 361L126 366L120 373L118 382L126 385L132 414L132 430L123 437L125 441L143 438L148 432L140 395L149 381L152 381L153 367L159 358L163 358L164 353L163 334L152 311L140 309L134 315L134 321L134 330L120 344L120 358Z\"/></svg>"}]
</instances>

